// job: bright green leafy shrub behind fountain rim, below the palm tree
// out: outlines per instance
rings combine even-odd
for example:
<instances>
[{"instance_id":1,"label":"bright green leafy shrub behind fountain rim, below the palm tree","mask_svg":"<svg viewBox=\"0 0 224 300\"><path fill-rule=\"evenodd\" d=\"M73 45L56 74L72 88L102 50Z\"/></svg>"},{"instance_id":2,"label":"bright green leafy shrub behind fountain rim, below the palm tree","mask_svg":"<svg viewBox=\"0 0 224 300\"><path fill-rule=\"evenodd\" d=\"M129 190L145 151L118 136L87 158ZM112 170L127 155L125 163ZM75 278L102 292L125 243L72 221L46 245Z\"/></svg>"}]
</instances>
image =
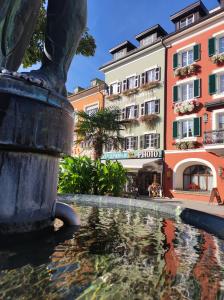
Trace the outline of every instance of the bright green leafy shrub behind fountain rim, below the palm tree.
<instances>
[{"instance_id":1,"label":"bright green leafy shrub behind fountain rim, below the palm tree","mask_svg":"<svg viewBox=\"0 0 224 300\"><path fill-rule=\"evenodd\" d=\"M119 162L67 157L60 163L58 192L119 196L126 182L127 172Z\"/></svg>"}]
</instances>

